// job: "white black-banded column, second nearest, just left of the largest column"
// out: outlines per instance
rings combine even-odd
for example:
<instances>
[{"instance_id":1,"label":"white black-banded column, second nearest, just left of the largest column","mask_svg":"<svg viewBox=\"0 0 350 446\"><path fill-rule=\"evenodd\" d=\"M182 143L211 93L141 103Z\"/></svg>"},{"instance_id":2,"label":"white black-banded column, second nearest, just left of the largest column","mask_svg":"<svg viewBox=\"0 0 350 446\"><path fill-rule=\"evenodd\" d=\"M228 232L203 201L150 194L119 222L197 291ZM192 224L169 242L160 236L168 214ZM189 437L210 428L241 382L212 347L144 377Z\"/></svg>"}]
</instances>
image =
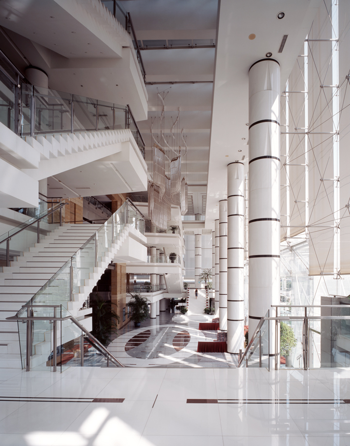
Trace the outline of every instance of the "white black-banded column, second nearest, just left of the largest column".
<instances>
[{"instance_id":1,"label":"white black-banded column, second nearest, just left of the largest column","mask_svg":"<svg viewBox=\"0 0 350 446\"><path fill-rule=\"evenodd\" d=\"M227 166L227 352L244 350L244 164Z\"/></svg>"}]
</instances>

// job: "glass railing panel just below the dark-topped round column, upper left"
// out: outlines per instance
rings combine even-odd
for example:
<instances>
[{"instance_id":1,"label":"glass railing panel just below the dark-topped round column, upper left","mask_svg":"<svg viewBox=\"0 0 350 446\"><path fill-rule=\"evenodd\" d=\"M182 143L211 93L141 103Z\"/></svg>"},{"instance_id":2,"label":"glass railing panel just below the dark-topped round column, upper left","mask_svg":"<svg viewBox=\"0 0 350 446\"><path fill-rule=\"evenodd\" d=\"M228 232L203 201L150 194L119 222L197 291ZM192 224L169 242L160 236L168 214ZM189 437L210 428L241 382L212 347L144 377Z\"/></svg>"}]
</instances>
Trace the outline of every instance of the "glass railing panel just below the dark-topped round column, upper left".
<instances>
[{"instance_id":1,"label":"glass railing panel just below the dark-topped round column, upper left","mask_svg":"<svg viewBox=\"0 0 350 446\"><path fill-rule=\"evenodd\" d=\"M35 133L68 132L71 129L72 95L34 87L35 95Z\"/></svg>"}]
</instances>

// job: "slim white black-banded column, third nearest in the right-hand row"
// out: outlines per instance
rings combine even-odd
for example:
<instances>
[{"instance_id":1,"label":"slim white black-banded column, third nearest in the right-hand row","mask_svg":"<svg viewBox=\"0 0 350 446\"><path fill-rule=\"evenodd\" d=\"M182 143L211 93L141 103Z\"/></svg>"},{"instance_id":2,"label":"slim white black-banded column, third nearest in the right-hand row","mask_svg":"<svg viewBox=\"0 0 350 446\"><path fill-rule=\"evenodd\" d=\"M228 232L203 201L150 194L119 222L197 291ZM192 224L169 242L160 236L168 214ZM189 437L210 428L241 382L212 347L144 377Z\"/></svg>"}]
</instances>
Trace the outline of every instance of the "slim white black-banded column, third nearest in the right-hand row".
<instances>
[{"instance_id":1,"label":"slim white black-banded column, third nearest in the right-hand row","mask_svg":"<svg viewBox=\"0 0 350 446\"><path fill-rule=\"evenodd\" d=\"M219 322L227 330L227 200L219 201Z\"/></svg>"}]
</instances>

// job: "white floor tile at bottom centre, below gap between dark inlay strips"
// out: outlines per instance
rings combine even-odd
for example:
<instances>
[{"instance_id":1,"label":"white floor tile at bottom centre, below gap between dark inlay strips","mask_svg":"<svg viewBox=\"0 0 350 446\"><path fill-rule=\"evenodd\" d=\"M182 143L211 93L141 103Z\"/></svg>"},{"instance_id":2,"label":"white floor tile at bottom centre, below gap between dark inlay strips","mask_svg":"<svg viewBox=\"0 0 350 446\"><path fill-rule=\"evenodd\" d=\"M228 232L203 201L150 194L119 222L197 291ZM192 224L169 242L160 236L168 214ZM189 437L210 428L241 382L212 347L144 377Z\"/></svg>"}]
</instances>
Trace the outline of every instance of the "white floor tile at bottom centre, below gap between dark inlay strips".
<instances>
[{"instance_id":1,"label":"white floor tile at bottom centre, below gap between dark inlay strips","mask_svg":"<svg viewBox=\"0 0 350 446\"><path fill-rule=\"evenodd\" d=\"M222 435L217 404L186 404L180 401L156 401L143 435Z\"/></svg>"}]
</instances>

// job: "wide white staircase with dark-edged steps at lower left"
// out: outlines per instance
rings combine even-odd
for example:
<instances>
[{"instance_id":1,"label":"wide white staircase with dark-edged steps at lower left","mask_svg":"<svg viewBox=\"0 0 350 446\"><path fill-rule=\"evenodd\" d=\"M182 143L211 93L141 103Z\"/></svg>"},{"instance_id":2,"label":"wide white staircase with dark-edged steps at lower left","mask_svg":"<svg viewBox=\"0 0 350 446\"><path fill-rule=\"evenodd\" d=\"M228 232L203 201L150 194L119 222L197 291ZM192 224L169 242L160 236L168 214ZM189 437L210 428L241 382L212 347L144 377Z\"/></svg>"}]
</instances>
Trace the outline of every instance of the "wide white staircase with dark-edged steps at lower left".
<instances>
[{"instance_id":1,"label":"wide white staircase with dark-edged steps at lower left","mask_svg":"<svg viewBox=\"0 0 350 446\"><path fill-rule=\"evenodd\" d=\"M2 267L2 272L0 272L0 368L22 367L18 323L8 321L6 318L14 316L21 306L35 296L55 274L50 291L47 290L45 297L39 299L39 302L46 303L47 299L53 304L62 302L76 319L84 320L87 315L90 317L91 309L83 309L83 304L128 236L130 225L125 224L116 235L114 242L106 243L105 249L99 250L97 266L95 266L94 240L84 249L81 248L100 228L104 228L104 225L66 224L58 227L49 232L40 243L35 243L29 250L15 257L9 267ZM106 227L105 234L107 234ZM105 236L103 240L107 238L110 236ZM75 264L79 264L79 268L75 270L70 301L70 296L67 297L70 268L66 267L67 262L77 251L73 260ZM49 293L51 295L48 296ZM20 322L19 325L21 325ZM35 340L35 350L43 352L42 355L47 355L47 352L51 351L50 340L50 336L43 331L41 338Z\"/></svg>"}]
</instances>

